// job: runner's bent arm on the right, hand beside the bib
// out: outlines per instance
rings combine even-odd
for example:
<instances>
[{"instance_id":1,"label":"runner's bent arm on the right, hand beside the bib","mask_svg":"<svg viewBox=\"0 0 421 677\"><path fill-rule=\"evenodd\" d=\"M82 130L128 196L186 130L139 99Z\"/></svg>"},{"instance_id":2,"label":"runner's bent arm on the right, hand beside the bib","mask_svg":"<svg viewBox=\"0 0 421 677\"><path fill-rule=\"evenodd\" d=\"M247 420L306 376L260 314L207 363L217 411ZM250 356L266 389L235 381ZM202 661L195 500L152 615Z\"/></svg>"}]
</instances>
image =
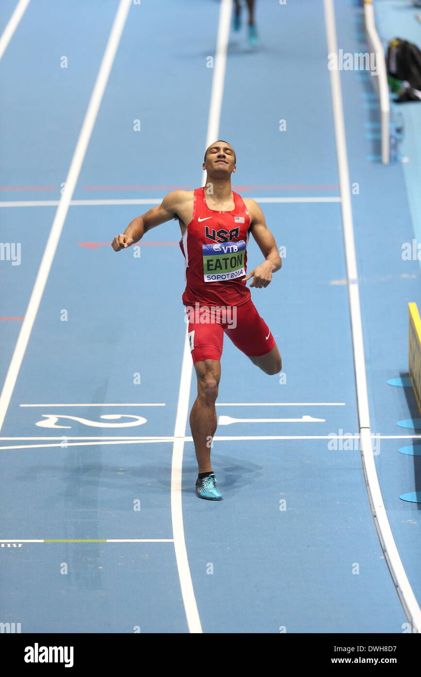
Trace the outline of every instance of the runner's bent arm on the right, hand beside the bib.
<instances>
[{"instance_id":1,"label":"runner's bent arm on the right, hand beside the bib","mask_svg":"<svg viewBox=\"0 0 421 677\"><path fill-rule=\"evenodd\" d=\"M272 281L272 273L276 273L282 266L282 259L279 256L275 238L266 225L262 209L260 209L255 200L247 199L245 203L250 215L251 234L265 257L264 262L254 268L245 279L249 280L253 278L253 282L250 284L251 287L267 287Z\"/></svg>"}]
</instances>

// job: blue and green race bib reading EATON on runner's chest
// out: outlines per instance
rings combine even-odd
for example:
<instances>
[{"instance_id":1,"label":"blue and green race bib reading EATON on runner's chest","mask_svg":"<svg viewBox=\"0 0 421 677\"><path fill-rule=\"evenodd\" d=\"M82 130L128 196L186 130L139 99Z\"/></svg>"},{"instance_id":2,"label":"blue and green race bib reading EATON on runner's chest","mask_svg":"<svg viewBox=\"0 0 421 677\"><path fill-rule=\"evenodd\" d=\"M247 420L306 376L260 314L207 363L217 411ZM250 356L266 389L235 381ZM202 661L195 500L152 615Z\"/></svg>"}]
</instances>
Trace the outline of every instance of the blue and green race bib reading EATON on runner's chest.
<instances>
[{"instance_id":1,"label":"blue and green race bib reading EATON on runner's chest","mask_svg":"<svg viewBox=\"0 0 421 677\"><path fill-rule=\"evenodd\" d=\"M205 282L236 280L245 275L245 241L202 244Z\"/></svg>"}]
</instances>

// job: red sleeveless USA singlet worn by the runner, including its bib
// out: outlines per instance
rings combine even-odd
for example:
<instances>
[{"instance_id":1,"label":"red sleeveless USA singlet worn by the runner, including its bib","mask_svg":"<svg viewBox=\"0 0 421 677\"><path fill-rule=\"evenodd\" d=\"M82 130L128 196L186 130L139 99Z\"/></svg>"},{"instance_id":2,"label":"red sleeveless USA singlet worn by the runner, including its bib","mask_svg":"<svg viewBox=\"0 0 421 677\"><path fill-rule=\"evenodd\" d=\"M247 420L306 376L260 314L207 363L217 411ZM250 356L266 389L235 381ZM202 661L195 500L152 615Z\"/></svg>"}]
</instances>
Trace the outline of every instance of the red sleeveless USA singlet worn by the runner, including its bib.
<instances>
[{"instance_id":1,"label":"red sleeveless USA singlet worn by the runner, including its bib","mask_svg":"<svg viewBox=\"0 0 421 677\"><path fill-rule=\"evenodd\" d=\"M185 259L184 305L241 305L251 297L245 276L250 217L238 193L234 209L209 209L205 189L196 188L193 218L180 240Z\"/></svg>"}]
</instances>

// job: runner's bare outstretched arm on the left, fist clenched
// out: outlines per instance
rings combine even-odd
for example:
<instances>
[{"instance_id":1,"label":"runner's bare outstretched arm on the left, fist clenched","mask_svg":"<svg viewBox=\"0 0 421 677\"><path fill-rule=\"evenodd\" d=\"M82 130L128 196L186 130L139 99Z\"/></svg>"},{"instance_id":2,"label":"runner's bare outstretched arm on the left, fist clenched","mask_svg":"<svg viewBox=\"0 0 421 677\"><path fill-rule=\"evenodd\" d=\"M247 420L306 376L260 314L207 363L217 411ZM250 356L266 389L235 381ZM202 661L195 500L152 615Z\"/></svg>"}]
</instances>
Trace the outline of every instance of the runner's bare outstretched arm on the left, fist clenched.
<instances>
[{"instance_id":1,"label":"runner's bare outstretched arm on the left, fist clenched","mask_svg":"<svg viewBox=\"0 0 421 677\"><path fill-rule=\"evenodd\" d=\"M185 192L184 190L174 190L165 196L161 204L152 209L149 209L146 214L137 216L133 221L130 221L124 234L116 235L112 241L112 248L115 252L126 249L130 244L139 242L148 230L155 228L161 223L171 221L177 215L178 206L182 203Z\"/></svg>"}]
</instances>

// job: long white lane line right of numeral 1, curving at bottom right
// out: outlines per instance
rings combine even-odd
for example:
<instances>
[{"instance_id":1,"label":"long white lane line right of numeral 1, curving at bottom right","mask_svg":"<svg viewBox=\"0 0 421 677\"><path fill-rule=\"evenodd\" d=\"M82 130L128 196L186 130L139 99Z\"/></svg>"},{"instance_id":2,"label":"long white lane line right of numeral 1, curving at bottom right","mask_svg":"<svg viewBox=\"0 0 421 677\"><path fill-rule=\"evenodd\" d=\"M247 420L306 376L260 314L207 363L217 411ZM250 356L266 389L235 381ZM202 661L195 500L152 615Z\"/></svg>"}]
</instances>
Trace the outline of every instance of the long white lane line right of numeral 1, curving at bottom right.
<instances>
[{"instance_id":1,"label":"long white lane line right of numeral 1, curving at bottom right","mask_svg":"<svg viewBox=\"0 0 421 677\"><path fill-rule=\"evenodd\" d=\"M338 53L337 32L335 22L335 7L333 0L324 0L324 16L326 22L326 37L328 53ZM407 618L411 621L413 632L421 631L421 609L410 586L405 569L401 562L385 505L383 504L380 485L374 464L372 449L372 434L370 432L370 412L368 408L368 391L366 380L366 362L364 359L364 345L362 332L362 318L360 309L360 292L358 287L357 259L355 256L355 241L353 234L353 219L351 209L349 169L345 122L343 117L343 102L341 79L338 70L330 70L330 89L332 92L333 118L335 123L335 139L337 144L337 162L339 169L339 186L342 198L342 222L345 241L345 257L347 261L347 276L349 290L349 307L351 311L351 330L353 341L353 358L355 366L355 381L357 390L358 418L360 420L361 456L366 477L366 486L374 523L382 550L385 553L393 582L397 588L399 598ZM352 284L351 284L352 282Z\"/></svg>"}]
</instances>

